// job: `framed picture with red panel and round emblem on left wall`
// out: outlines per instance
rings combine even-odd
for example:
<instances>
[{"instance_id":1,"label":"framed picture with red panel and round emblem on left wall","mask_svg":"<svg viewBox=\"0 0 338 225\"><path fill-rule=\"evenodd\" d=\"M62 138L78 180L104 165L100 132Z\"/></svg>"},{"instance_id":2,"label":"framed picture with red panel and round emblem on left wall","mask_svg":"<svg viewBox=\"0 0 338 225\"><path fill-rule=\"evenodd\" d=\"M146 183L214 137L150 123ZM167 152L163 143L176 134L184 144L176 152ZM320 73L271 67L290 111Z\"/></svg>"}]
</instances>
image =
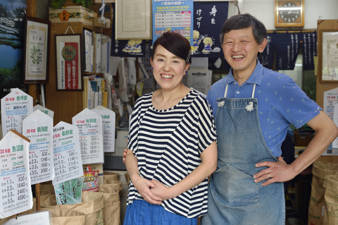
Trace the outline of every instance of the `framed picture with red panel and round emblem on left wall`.
<instances>
[{"instance_id":1,"label":"framed picture with red panel and round emblem on left wall","mask_svg":"<svg viewBox=\"0 0 338 225\"><path fill-rule=\"evenodd\" d=\"M55 35L56 90L82 90L82 35Z\"/></svg>"}]
</instances>

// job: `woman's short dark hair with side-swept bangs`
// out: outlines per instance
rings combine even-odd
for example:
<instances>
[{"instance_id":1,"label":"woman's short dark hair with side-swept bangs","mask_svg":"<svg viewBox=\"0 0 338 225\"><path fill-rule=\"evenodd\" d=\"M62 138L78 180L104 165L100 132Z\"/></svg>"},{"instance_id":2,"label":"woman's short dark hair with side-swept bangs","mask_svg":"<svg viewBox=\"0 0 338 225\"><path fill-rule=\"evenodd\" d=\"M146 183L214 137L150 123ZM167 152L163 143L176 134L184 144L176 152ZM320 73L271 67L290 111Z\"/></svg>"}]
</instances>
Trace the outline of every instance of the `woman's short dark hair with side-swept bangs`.
<instances>
[{"instance_id":1,"label":"woman's short dark hair with side-swept bangs","mask_svg":"<svg viewBox=\"0 0 338 225\"><path fill-rule=\"evenodd\" d=\"M158 45L162 45L165 49L173 53L175 56L184 59L186 63L192 63L191 47L189 41L182 35L168 31L163 33L153 44L151 59L154 59L155 51Z\"/></svg>"}]
</instances>

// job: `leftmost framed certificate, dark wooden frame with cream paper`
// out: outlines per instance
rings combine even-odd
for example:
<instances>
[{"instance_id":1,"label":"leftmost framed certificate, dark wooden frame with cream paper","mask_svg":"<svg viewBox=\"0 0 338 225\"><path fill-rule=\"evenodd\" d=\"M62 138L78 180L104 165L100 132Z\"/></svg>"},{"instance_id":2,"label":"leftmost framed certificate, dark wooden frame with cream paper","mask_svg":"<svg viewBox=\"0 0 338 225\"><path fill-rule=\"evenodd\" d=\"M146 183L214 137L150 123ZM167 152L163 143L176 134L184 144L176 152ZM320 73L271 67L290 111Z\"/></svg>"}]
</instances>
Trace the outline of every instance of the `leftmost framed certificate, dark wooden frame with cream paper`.
<instances>
[{"instance_id":1,"label":"leftmost framed certificate, dark wooden frame with cream paper","mask_svg":"<svg viewBox=\"0 0 338 225\"><path fill-rule=\"evenodd\" d=\"M49 20L26 17L24 80L25 84L48 83Z\"/></svg>"}]
</instances>

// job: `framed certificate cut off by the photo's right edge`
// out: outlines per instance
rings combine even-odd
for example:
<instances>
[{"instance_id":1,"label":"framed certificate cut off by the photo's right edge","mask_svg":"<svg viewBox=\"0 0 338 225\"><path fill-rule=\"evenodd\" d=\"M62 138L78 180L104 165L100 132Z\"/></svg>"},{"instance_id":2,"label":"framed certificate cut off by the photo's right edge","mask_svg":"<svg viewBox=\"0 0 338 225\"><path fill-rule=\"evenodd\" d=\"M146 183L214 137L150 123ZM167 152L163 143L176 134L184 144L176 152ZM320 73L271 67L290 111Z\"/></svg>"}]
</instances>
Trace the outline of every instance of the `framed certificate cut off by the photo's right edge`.
<instances>
[{"instance_id":1,"label":"framed certificate cut off by the photo's right edge","mask_svg":"<svg viewBox=\"0 0 338 225\"><path fill-rule=\"evenodd\" d=\"M321 83L338 83L338 30L320 30L319 52ZM318 44L319 45L319 44ZM319 50L319 49L318 49Z\"/></svg>"}]
</instances>

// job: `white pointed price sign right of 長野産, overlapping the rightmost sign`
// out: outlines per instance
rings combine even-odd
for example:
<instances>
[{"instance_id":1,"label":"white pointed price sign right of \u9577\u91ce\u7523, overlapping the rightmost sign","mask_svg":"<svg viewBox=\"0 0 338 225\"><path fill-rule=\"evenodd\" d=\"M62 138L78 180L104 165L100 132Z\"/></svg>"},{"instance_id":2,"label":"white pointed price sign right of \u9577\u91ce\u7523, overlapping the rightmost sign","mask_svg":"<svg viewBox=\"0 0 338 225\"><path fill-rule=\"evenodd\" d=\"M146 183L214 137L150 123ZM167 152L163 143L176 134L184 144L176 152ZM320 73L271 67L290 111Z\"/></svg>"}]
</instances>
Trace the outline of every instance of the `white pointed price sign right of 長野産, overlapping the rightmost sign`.
<instances>
[{"instance_id":1,"label":"white pointed price sign right of \u9577\u91ce\u7523, overlapping the rightmost sign","mask_svg":"<svg viewBox=\"0 0 338 225\"><path fill-rule=\"evenodd\" d=\"M84 109L72 121L79 129L82 164L104 163L101 115Z\"/></svg>"}]
</instances>

